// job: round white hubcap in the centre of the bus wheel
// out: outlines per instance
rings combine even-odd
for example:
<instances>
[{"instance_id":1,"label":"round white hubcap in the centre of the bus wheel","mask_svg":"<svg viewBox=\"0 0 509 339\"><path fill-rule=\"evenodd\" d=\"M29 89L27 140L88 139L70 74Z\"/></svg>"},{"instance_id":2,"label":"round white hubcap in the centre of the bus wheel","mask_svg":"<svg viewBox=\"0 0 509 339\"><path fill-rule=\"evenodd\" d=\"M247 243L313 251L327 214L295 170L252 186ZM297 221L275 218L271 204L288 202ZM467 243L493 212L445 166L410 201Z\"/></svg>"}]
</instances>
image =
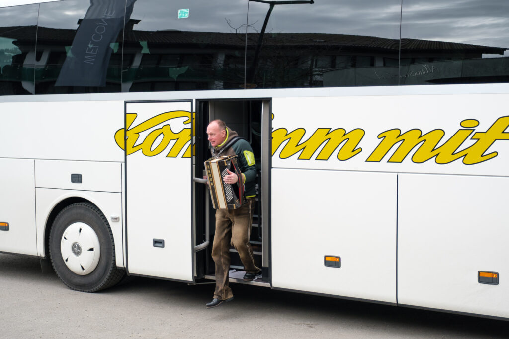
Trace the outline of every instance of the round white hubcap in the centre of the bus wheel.
<instances>
[{"instance_id":1,"label":"round white hubcap in the centre of the bus wheel","mask_svg":"<svg viewBox=\"0 0 509 339\"><path fill-rule=\"evenodd\" d=\"M66 228L60 251L67 267L79 275L94 271L101 257L99 238L92 227L84 223L74 223Z\"/></svg>"}]
</instances>

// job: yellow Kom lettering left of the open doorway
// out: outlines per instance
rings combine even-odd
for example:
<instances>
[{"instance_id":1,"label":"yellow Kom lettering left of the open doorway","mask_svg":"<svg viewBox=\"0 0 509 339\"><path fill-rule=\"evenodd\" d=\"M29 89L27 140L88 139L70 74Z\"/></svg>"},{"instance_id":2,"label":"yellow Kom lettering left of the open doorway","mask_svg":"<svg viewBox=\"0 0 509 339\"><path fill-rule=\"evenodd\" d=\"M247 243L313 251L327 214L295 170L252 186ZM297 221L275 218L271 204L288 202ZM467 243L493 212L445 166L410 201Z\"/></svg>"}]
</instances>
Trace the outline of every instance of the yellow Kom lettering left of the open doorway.
<instances>
[{"instance_id":1,"label":"yellow Kom lettering left of the open doorway","mask_svg":"<svg viewBox=\"0 0 509 339\"><path fill-rule=\"evenodd\" d=\"M183 122L184 126L191 124L191 112L164 112L151 117L136 126L131 127L136 117L136 113L126 113L127 133L125 132L125 129L120 129L115 133L115 141L117 142L117 145L122 149L124 149L124 138L126 138L127 155L131 155L132 153L141 150L143 155L147 157L153 157L166 149L169 143L175 141L172 148L168 151L166 158L178 157L182 149L184 149L187 144L189 145L182 157L191 157L191 127L189 126L188 128L183 128L180 132L176 133L174 130L172 130L172 127L169 124L170 120L182 117L187 118ZM192 115L192 119L194 120L194 114ZM166 121L167 124L150 131L144 140L138 142L140 133L148 131ZM192 135L194 135L194 131L192 131ZM156 143L156 140L160 141Z\"/></svg>"}]
</instances>

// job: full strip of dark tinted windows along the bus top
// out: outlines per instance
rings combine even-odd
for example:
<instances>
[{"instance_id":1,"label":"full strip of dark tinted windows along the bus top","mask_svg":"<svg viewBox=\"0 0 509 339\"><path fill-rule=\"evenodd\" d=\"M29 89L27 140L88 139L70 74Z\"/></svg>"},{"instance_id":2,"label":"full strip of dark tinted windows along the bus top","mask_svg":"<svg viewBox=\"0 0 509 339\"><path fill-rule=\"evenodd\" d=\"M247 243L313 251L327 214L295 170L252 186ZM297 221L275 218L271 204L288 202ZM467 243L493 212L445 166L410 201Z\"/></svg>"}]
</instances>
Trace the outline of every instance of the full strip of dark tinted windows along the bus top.
<instances>
[{"instance_id":1,"label":"full strip of dark tinted windows along the bus top","mask_svg":"<svg viewBox=\"0 0 509 339\"><path fill-rule=\"evenodd\" d=\"M509 82L507 27L506 0L0 8L0 95Z\"/></svg>"}]
</instances>

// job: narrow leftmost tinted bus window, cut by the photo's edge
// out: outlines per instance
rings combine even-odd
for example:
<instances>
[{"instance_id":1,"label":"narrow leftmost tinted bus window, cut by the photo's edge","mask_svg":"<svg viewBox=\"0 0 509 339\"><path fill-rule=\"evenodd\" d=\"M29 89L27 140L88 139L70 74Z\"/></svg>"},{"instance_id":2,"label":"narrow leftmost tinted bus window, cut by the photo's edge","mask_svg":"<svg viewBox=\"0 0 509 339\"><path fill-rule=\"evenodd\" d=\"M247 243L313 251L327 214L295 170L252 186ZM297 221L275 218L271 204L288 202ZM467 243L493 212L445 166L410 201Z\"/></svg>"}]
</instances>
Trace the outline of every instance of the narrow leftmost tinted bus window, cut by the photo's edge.
<instances>
[{"instance_id":1,"label":"narrow leftmost tinted bus window, cut by the photo's edge","mask_svg":"<svg viewBox=\"0 0 509 339\"><path fill-rule=\"evenodd\" d=\"M0 95L34 94L38 8L0 8Z\"/></svg>"}]
</instances>

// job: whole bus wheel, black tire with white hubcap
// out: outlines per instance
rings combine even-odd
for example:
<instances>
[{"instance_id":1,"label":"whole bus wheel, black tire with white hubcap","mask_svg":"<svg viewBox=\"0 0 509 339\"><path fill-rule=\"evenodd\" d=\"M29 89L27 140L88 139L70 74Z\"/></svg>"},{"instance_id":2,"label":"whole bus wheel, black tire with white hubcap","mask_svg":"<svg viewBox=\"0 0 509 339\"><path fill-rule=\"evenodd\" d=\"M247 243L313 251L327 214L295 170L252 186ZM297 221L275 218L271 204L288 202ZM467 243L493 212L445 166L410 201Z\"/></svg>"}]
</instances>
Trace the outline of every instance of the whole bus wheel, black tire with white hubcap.
<instances>
[{"instance_id":1,"label":"whole bus wheel, black tire with white hubcap","mask_svg":"<svg viewBox=\"0 0 509 339\"><path fill-rule=\"evenodd\" d=\"M125 274L115 264L108 221L91 203L72 204L56 216L49 233L49 256L56 275L76 291L103 290Z\"/></svg>"}]
</instances>

